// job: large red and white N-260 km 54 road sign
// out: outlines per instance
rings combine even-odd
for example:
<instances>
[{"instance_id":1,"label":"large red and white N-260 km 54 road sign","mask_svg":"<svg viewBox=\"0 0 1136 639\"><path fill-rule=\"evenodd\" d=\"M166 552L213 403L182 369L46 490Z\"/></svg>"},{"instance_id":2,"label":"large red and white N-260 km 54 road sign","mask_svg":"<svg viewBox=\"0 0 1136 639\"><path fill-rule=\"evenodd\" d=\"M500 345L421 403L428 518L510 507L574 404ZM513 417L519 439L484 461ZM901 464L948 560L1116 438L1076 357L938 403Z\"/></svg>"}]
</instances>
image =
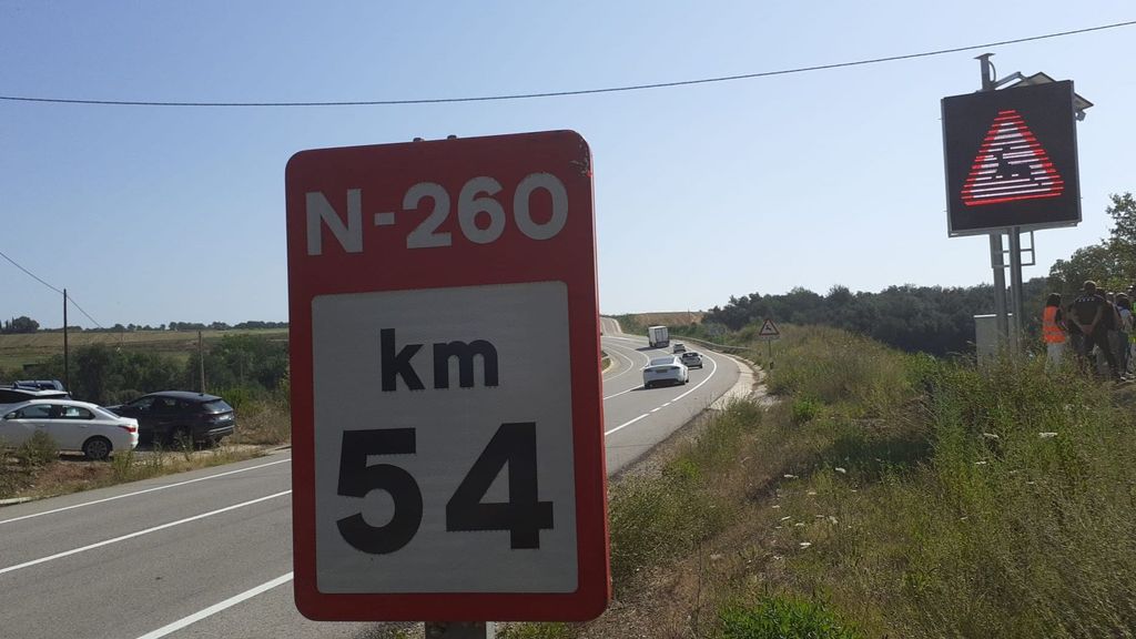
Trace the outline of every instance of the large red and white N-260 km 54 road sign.
<instances>
[{"instance_id":1,"label":"large red and white N-260 km 54 road sign","mask_svg":"<svg viewBox=\"0 0 1136 639\"><path fill-rule=\"evenodd\" d=\"M286 191L300 612L599 615L587 144L558 131L301 151Z\"/></svg>"}]
</instances>

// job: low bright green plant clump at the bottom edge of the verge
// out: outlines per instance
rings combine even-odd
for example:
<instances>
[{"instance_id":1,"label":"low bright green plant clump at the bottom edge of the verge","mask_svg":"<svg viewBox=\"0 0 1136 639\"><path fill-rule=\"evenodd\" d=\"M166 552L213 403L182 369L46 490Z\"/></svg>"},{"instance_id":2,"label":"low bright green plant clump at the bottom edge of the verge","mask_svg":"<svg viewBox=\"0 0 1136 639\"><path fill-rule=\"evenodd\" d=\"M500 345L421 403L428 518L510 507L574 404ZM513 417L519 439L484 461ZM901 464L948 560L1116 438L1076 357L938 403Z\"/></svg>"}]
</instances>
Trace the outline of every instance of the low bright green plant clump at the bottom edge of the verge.
<instances>
[{"instance_id":1,"label":"low bright green plant clump at the bottom edge of the verge","mask_svg":"<svg viewBox=\"0 0 1136 639\"><path fill-rule=\"evenodd\" d=\"M859 639L818 599L762 597L754 606L727 606L719 613L721 639Z\"/></svg>"}]
</instances>

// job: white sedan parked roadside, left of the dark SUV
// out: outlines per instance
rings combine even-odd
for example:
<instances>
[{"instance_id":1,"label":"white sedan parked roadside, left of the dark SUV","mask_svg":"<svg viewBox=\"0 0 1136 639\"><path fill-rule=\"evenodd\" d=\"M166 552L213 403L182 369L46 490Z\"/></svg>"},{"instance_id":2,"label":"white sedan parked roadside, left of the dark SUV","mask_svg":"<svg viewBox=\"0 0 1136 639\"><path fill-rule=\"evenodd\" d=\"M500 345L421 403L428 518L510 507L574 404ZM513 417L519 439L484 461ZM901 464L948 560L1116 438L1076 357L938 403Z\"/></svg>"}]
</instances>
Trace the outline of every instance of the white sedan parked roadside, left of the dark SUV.
<instances>
[{"instance_id":1,"label":"white sedan parked roadside, left of the dark SUV","mask_svg":"<svg viewBox=\"0 0 1136 639\"><path fill-rule=\"evenodd\" d=\"M19 446L42 431L60 450L81 450L87 459L106 459L114 451L139 445L139 422L73 399L33 399L0 416L0 446Z\"/></svg>"}]
</instances>

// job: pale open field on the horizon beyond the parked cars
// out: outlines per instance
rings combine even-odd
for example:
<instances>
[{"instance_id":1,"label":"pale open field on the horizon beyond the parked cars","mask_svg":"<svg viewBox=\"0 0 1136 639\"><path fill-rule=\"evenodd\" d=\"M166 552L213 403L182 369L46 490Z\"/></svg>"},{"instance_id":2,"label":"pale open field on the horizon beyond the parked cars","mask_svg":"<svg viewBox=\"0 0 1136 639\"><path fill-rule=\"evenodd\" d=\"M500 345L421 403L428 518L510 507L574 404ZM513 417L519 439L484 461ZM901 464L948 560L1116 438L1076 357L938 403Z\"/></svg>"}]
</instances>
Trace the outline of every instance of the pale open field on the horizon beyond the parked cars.
<instances>
[{"instance_id":1,"label":"pale open field on the horizon beyond the parked cars","mask_svg":"<svg viewBox=\"0 0 1136 639\"><path fill-rule=\"evenodd\" d=\"M206 342L219 341L225 335L258 334L272 340L287 340L287 329L233 329L227 331L201 331ZM67 337L68 347L74 349L91 345L107 345L122 349L160 352L178 358L187 358L198 348L197 331L128 331L122 333L73 332ZM18 335L0 335L0 368L20 368L39 364L64 352L61 332L37 332Z\"/></svg>"}]
</instances>

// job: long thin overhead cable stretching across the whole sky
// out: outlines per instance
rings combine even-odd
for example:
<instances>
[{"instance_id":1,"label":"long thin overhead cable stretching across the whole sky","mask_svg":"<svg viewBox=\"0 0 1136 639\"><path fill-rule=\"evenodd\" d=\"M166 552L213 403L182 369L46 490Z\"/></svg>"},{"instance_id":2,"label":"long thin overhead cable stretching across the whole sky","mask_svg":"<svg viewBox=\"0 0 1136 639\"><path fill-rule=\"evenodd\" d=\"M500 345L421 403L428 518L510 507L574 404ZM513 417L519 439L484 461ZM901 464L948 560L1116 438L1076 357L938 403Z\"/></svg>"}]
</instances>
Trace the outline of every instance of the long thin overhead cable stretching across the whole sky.
<instances>
[{"instance_id":1,"label":"long thin overhead cable stretching across the whole sky","mask_svg":"<svg viewBox=\"0 0 1136 639\"><path fill-rule=\"evenodd\" d=\"M951 49L938 49L934 51L922 51L920 53L907 53L902 56L887 56L884 58L869 58L866 60L853 60L847 63L834 63L828 65L817 65L810 67L797 67L780 70L766 70L758 73L746 73L741 75L724 75L718 77L703 77L699 80L679 80L675 82L657 82L651 84L632 84L626 86L607 86L600 89L578 89L569 91L546 91L541 93L510 93L501 96L466 96L456 98L415 98L396 100L344 100L344 101L310 101L310 102L207 102L207 101L158 101L158 100L87 100L78 98L39 98L30 96L0 96L0 100L15 102L50 102L57 105L101 105L115 107L387 107L399 105L442 105L454 102L491 102L503 100L527 100L532 98L563 98L569 96L591 96L596 93L618 93L624 91L643 91L648 89L670 89L674 86L690 86L694 84L711 84L717 82L734 82L738 80L752 80L755 77L769 77L774 75L788 75L795 73L808 73L815 70L827 70L844 67L863 65L875 65L880 63L894 63L896 60L909 60L912 58L925 58L929 56L942 56L945 53L959 53L962 51L974 51L977 49L988 49L991 47L1003 47L1006 44L1019 44L1036 40L1051 38L1063 38L1066 35L1078 35L1094 31L1118 28L1122 26L1136 25L1136 20L1113 23L1087 28L1062 31L1058 33L1046 33L1044 35L1031 35L1028 38L1017 38L1013 40L1002 40L999 42L987 42L985 44L971 44L968 47L954 47Z\"/></svg>"}]
</instances>

